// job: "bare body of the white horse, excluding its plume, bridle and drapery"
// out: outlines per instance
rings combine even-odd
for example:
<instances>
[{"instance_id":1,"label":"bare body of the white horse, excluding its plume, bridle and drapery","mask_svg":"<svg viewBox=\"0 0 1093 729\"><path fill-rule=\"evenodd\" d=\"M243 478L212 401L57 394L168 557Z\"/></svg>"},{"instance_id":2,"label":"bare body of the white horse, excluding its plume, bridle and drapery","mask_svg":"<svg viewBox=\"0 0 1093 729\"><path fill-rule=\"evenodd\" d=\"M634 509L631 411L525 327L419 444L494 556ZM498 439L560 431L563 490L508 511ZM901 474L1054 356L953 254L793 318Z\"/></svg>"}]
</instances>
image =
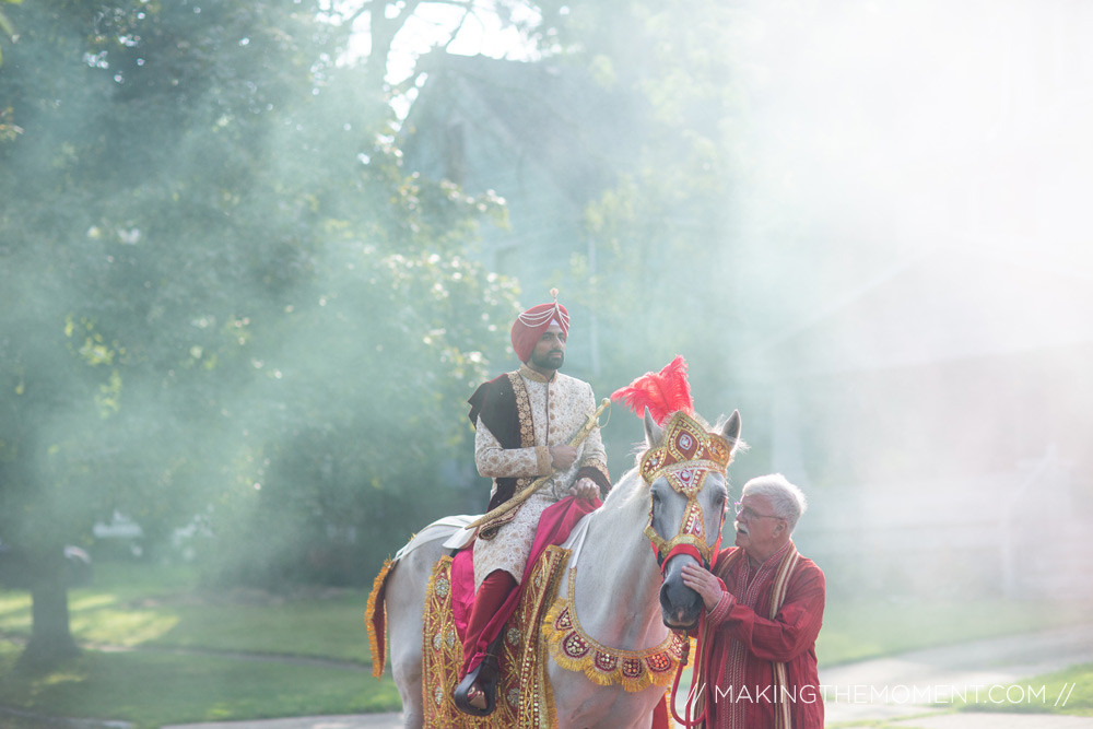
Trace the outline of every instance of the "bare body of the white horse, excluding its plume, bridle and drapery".
<instances>
[{"instance_id":1,"label":"bare body of the white horse, excluding its plume, bridle and drapery","mask_svg":"<svg viewBox=\"0 0 1093 729\"><path fill-rule=\"evenodd\" d=\"M705 427L705 426L704 426ZM732 415L710 435L728 443L729 452L740 438L740 414ZM647 450L662 445L665 430L645 413ZM643 451L642 455L644 455ZM642 455L638 456L640 462ZM712 548L728 504L728 483L721 472L710 472L696 495L702 506L702 534ZM650 522L663 541L677 537L687 497L665 478L647 484L637 468L627 471L603 505L585 517L587 532L575 568L575 584L562 578L559 597L576 590L577 620L587 635L619 650L644 650L662 644L669 627L697 623L702 600L683 585L681 569L694 561L689 554L669 558L661 573L644 530ZM444 541L458 527L435 522L400 552L387 580L386 607L390 656L407 729L420 729L422 706L422 613L433 565L446 552ZM575 530L576 531L576 530ZM383 605L376 608L383 609ZM569 671L550 660L557 726L562 729L648 729L653 710L663 701L665 687L653 685L626 693L620 685L592 683L583 672Z\"/></svg>"}]
</instances>

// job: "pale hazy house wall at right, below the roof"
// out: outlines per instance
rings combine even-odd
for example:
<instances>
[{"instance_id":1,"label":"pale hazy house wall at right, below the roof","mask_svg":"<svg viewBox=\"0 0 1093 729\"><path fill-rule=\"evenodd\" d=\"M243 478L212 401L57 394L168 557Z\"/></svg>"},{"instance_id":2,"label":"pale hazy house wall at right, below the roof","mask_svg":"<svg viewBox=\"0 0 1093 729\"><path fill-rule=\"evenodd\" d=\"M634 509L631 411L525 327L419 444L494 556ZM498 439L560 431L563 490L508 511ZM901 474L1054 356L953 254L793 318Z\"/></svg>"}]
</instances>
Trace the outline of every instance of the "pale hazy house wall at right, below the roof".
<instances>
[{"instance_id":1,"label":"pale hazy house wall at right, below the roof","mask_svg":"<svg viewBox=\"0 0 1093 729\"><path fill-rule=\"evenodd\" d=\"M765 385L769 470L809 496L795 539L832 590L1093 597L1088 362L1078 345Z\"/></svg>"}]
</instances>

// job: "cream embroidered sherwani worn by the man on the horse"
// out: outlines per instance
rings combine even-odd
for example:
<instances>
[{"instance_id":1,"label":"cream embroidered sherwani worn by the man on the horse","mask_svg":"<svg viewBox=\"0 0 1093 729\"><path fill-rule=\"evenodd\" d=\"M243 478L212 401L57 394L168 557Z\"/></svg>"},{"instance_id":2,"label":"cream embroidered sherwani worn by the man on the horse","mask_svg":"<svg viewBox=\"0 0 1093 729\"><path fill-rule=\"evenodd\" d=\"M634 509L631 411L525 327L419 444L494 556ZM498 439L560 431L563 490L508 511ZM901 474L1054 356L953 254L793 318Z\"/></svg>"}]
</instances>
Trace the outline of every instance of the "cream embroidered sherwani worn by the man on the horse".
<instances>
[{"instance_id":1,"label":"cream embroidered sherwani worn by the man on the horse","mask_svg":"<svg viewBox=\"0 0 1093 729\"><path fill-rule=\"evenodd\" d=\"M517 379L518 377L518 379ZM592 387L575 377L554 373L551 380L521 365L510 374L514 388L527 390L524 401L530 412L518 407L520 426L531 427L534 446L503 448L494 434L478 419L474 435L474 462L479 473L492 478L539 478L551 474L549 448L568 443L588 416L596 410ZM517 397L517 402L521 399ZM599 428L593 428L577 446L577 458L565 471L560 471L538 492L517 508L512 521L501 527L492 539L474 540L474 588L478 589L494 569L504 569L520 583L531 552L539 517L548 506L568 495L581 468L595 468L607 475L607 454ZM491 496L497 490L494 481Z\"/></svg>"}]
</instances>

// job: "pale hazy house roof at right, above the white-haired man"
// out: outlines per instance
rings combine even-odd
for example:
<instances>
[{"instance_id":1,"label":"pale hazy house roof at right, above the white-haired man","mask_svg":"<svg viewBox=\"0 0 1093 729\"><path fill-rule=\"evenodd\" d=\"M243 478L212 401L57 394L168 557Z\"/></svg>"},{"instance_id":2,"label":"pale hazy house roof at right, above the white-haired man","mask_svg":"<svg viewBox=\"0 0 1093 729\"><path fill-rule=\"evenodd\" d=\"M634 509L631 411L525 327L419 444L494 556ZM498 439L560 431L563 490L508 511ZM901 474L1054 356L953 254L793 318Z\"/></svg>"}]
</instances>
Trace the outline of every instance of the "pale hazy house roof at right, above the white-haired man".
<instances>
[{"instance_id":1,"label":"pale hazy house roof at right, above the white-haired man","mask_svg":"<svg viewBox=\"0 0 1093 729\"><path fill-rule=\"evenodd\" d=\"M1093 343L1093 280L1032 257L924 254L750 356L781 375L927 365Z\"/></svg>"}]
</instances>

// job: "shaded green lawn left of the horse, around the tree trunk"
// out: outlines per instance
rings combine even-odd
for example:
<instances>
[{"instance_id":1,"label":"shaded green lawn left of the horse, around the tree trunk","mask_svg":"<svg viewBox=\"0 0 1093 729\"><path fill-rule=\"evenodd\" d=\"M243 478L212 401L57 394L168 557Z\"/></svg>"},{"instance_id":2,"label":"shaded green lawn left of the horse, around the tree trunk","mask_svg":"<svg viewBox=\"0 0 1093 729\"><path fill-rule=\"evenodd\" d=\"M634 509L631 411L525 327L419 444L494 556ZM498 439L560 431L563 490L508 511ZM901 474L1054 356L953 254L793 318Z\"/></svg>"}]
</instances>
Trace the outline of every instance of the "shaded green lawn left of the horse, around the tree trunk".
<instances>
[{"instance_id":1,"label":"shaded green lawn left of the horse, around the tree trunk","mask_svg":"<svg viewBox=\"0 0 1093 729\"><path fill-rule=\"evenodd\" d=\"M73 635L90 649L28 677L12 667L30 635L30 595L0 591L0 706L140 729L398 710L389 675L376 680L367 668L366 600L364 590L204 590L187 569L96 565L94 584L69 596ZM328 658L357 670L218 655L232 652Z\"/></svg>"}]
</instances>

